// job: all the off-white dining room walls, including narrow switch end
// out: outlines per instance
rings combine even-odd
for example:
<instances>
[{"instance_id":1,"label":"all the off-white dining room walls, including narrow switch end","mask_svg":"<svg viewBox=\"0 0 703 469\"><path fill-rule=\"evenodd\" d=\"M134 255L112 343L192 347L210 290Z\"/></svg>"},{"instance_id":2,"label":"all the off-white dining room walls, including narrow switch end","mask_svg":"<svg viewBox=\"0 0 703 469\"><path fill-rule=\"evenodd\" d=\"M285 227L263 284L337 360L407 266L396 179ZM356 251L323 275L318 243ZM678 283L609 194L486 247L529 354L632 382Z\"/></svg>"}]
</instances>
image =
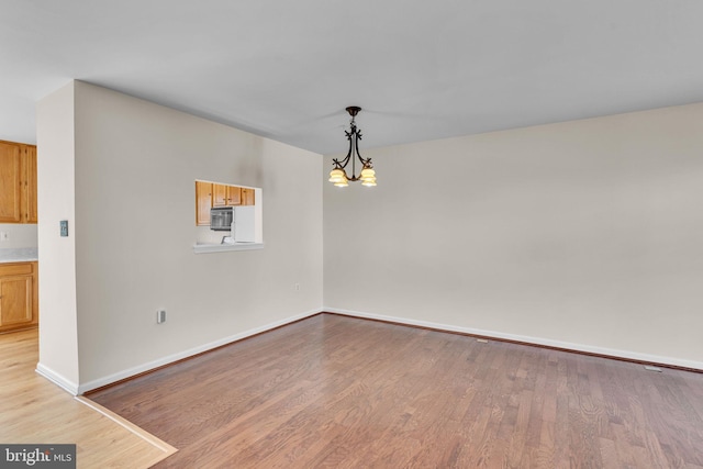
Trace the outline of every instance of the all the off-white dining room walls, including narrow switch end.
<instances>
[{"instance_id":1,"label":"all the off-white dining room walls, including narrow switch end","mask_svg":"<svg viewBox=\"0 0 703 469\"><path fill-rule=\"evenodd\" d=\"M702 118L362 148L379 186L336 190L330 158L70 83L37 111L37 369L82 392L323 304L703 368ZM194 179L263 188L266 247L193 254Z\"/></svg>"}]
</instances>

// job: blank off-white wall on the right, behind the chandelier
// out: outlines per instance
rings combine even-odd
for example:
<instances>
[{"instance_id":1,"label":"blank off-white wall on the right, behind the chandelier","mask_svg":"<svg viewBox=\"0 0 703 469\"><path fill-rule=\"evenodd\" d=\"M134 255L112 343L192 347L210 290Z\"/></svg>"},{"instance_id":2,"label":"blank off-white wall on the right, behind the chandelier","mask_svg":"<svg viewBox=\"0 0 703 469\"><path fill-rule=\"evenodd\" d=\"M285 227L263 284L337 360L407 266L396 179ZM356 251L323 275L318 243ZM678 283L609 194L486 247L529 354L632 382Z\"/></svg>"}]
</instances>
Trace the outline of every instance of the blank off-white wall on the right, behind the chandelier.
<instances>
[{"instance_id":1,"label":"blank off-white wall on the right, behind the chandelier","mask_svg":"<svg viewBox=\"0 0 703 469\"><path fill-rule=\"evenodd\" d=\"M361 153L327 310L703 369L703 104Z\"/></svg>"}]
</instances>

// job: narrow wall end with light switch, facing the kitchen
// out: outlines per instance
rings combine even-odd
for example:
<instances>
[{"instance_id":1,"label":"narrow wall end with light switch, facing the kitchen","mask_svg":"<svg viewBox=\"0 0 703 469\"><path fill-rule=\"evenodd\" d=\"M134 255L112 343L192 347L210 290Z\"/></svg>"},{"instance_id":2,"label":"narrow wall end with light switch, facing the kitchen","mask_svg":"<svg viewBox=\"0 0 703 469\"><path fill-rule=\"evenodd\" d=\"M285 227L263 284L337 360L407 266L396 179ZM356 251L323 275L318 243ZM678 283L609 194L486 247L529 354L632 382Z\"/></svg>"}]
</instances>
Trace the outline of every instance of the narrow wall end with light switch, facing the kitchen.
<instances>
[{"instance_id":1,"label":"narrow wall end with light switch, facing the kitchen","mask_svg":"<svg viewBox=\"0 0 703 469\"><path fill-rule=\"evenodd\" d=\"M40 246L40 364L37 370L68 390L78 386L76 314L74 86L37 105L37 225ZM68 220L68 237L59 221Z\"/></svg>"}]
</instances>

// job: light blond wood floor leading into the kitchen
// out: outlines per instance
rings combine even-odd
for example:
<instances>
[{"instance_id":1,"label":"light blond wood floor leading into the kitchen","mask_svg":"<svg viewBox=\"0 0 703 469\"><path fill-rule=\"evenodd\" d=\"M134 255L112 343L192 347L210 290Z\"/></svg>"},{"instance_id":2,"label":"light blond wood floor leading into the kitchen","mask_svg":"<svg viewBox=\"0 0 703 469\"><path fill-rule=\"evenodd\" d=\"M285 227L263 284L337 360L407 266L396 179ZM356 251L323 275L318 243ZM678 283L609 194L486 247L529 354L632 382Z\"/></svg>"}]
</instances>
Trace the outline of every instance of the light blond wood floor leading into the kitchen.
<instances>
[{"instance_id":1,"label":"light blond wood floor leading into the kitchen","mask_svg":"<svg viewBox=\"0 0 703 469\"><path fill-rule=\"evenodd\" d=\"M76 444L87 469L148 468L175 451L38 376L37 358L37 330L0 334L0 443Z\"/></svg>"}]
</instances>

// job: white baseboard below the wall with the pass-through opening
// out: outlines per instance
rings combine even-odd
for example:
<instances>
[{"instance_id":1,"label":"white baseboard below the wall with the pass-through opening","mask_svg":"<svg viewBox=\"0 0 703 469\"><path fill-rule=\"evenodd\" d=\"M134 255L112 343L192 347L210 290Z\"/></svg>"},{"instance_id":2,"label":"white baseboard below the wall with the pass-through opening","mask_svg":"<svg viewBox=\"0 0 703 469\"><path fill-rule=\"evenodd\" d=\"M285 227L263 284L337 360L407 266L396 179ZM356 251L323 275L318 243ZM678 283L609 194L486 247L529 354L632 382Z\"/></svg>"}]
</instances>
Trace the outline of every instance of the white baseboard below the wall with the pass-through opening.
<instances>
[{"instance_id":1,"label":"white baseboard below the wall with the pass-through opening","mask_svg":"<svg viewBox=\"0 0 703 469\"><path fill-rule=\"evenodd\" d=\"M120 380L123 380L123 379L126 379L126 378L143 373L145 371L149 371L149 370L153 370L155 368L159 368L159 367L163 367L165 365L169 365L169 364L172 364L175 361L182 360L183 358L192 357L193 355L202 354L203 351L212 350L213 348L217 348L217 347L221 347L223 345L227 345L227 344L231 344L233 342L237 342L237 340L241 340L243 338L250 337L253 335L260 334L263 332L270 331L270 330L274 330L276 327L280 327L282 325L293 323L295 321L304 320L305 317L310 317L310 316L313 316L315 314L322 313L322 311L323 310L308 311L305 313L297 314L294 316L290 316L290 317L287 317L287 319L281 320L281 321L277 321L275 323L266 324L266 325L263 325L260 327L255 327L255 328L252 328L252 330L238 333L238 334L234 334L234 335L231 335L231 336L227 336L227 337L223 337L221 339L211 342L209 344L203 344L203 345L200 345L198 347L189 348L188 350L183 350L183 351L179 351L177 354L168 355L166 357L159 358L158 360L149 361L149 362L136 366L136 367L129 368L126 370L119 371L116 373L112 373L112 375L105 376L103 378L99 378L99 379L82 383L82 384L77 387L77 392L71 392L71 393L74 395L83 394L83 393L86 393L88 391L91 391L93 389L98 389L98 388L101 388L103 386L108 386L108 384L111 384L113 382L116 382L116 381L120 381ZM37 367L37 369L38 369L38 367ZM49 379L52 379L52 378L49 378ZM62 384L59 384L59 386L62 386ZM65 388L65 389L67 389L67 388Z\"/></svg>"}]
</instances>

